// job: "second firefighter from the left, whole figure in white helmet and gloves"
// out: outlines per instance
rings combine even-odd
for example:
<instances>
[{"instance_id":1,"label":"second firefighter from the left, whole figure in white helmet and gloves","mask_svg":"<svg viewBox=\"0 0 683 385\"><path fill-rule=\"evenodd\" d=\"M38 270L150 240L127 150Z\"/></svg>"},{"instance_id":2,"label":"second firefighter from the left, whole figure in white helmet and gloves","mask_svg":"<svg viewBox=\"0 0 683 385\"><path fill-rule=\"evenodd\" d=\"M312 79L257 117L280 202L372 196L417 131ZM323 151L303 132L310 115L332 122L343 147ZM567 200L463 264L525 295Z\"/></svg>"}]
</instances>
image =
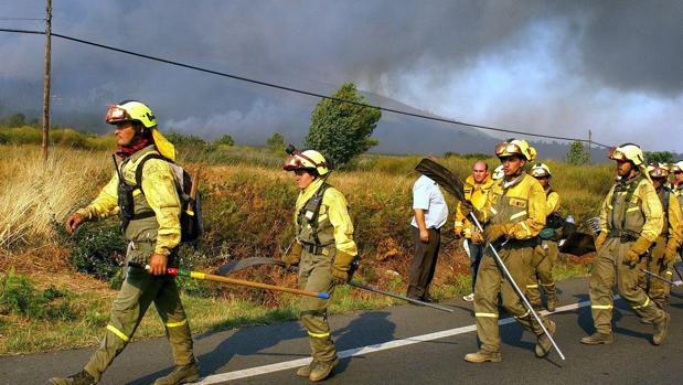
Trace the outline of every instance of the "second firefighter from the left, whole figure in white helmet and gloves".
<instances>
[{"instance_id":1,"label":"second firefighter from the left, whole figure in white helmet and gloves","mask_svg":"<svg viewBox=\"0 0 683 385\"><path fill-rule=\"evenodd\" d=\"M326 180L328 161L318 151L292 151L282 168L294 171L300 189L295 211L296 242L282 257L287 267L298 266L299 286L309 291L332 293L349 280L349 268L357 255L346 200ZM302 297L300 319L308 331L312 360L297 375L318 382L339 364L328 323L329 300Z\"/></svg>"}]
</instances>

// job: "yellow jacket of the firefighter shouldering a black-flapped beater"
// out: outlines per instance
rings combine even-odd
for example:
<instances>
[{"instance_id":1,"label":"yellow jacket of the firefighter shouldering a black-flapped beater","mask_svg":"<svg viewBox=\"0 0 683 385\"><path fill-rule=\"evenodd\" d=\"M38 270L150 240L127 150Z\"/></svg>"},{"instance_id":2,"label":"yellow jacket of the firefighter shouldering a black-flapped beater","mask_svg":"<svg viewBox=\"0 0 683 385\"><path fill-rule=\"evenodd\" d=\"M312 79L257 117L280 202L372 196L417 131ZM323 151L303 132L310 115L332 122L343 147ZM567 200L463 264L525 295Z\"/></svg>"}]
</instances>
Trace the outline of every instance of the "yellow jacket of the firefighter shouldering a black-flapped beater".
<instances>
[{"instance_id":1,"label":"yellow jacket of the firefighter shouldering a black-flapped beater","mask_svg":"<svg viewBox=\"0 0 683 385\"><path fill-rule=\"evenodd\" d=\"M505 182L495 181L479 220L492 224L509 224L508 238L529 239L545 226L545 191L538 181L526 173Z\"/></svg>"}]
</instances>

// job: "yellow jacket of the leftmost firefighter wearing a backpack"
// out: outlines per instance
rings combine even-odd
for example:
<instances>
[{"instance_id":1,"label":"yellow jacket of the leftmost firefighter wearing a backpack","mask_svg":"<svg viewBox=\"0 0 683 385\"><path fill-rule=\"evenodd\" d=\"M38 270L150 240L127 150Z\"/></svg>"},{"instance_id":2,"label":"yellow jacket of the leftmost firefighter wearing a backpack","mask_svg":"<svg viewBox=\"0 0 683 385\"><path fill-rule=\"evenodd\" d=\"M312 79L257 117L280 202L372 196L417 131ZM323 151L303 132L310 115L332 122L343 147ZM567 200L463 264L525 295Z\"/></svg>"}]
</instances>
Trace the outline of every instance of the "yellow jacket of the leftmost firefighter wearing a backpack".
<instances>
[{"instance_id":1,"label":"yellow jacket of the leftmost firefighter wearing a backpack","mask_svg":"<svg viewBox=\"0 0 683 385\"><path fill-rule=\"evenodd\" d=\"M122 163L121 174L128 184L135 184L135 172L142 154L156 151L152 146L136 152L131 159ZM157 231L154 253L170 255L180 243L180 197L175 190L175 177L168 162L161 159L150 159L145 163L141 180L145 199L154 211L159 229ZM99 192L99 195L86 207L76 211L86 221L98 221L119 212L118 207L118 174L114 177ZM141 192L135 191L134 195ZM140 240L140 239L128 239Z\"/></svg>"}]
</instances>

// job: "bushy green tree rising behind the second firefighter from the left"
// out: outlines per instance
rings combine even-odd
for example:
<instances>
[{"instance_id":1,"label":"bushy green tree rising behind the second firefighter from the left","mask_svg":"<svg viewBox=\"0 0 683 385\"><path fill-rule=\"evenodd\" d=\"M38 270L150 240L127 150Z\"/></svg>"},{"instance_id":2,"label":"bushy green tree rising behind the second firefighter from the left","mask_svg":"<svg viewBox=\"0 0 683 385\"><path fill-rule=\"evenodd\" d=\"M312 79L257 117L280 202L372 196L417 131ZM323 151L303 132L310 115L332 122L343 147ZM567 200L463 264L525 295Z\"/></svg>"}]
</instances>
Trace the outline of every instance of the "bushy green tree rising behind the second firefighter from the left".
<instances>
[{"instance_id":1,"label":"bushy green tree rising behind the second firefighter from the left","mask_svg":"<svg viewBox=\"0 0 683 385\"><path fill-rule=\"evenodd\" d=\"M344 83L332 97L365 104L365 97L359 94L355 84L351 82ZM322 99L311 114L306 147L322 152L332 164L343 167L378 143L370 136L380 118L382 111L377 108Z\"/></svg>"}]
</instances>

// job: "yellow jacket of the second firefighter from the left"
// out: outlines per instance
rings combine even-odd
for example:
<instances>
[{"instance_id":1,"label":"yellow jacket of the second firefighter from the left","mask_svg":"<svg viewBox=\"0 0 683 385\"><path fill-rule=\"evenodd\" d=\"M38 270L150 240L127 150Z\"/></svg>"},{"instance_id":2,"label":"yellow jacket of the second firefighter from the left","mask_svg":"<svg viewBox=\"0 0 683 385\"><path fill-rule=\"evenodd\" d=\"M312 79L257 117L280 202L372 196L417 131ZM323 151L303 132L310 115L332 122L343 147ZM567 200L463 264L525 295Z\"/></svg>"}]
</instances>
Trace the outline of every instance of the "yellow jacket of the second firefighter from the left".
<instances>
[{"instance_id":1,"label":"yellow jacket of the second firefighter from the left","mask_svg":"<svg viewBox=\"0 0 683 385\"><path fill-rule=\"evenodd\" d=\"M295 224L297 228L299 227L299 212L313 196L321 184L322 179L318 179L299 192L295 211ZM346 199L339 190L328 188L324 192L318 221L321 227L324 227L323 223L327 221L332 225L334 228L334 246L338 250L344 252L351 256L359 254L355 242L353 240L353 223L351 222L351 216L349 216Z\"/></svg>"}]
</instances>

